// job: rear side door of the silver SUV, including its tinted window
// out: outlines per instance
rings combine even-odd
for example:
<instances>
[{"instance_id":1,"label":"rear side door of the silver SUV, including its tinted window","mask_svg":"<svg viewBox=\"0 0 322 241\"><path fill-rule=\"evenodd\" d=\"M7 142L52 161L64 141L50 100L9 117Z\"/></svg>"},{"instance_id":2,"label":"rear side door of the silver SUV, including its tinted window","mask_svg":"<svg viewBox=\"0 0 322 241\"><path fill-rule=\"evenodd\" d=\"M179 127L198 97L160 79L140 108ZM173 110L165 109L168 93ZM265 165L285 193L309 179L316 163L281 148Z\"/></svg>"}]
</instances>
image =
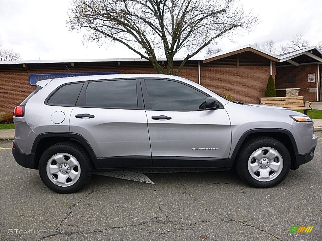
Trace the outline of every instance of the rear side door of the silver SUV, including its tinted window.
<instances>
[{"instance_id":1,"label":"rear side door of the silver SUV, including its tinted window","mask_svg":"<svg viewBox=\"0 0 322 241\"><path fill-rule=\"evenodd\" d=\"M70 131L90 144L100 168L151 167L139 79L85 82L71 112Z\"/></svg>"}]
</instances>

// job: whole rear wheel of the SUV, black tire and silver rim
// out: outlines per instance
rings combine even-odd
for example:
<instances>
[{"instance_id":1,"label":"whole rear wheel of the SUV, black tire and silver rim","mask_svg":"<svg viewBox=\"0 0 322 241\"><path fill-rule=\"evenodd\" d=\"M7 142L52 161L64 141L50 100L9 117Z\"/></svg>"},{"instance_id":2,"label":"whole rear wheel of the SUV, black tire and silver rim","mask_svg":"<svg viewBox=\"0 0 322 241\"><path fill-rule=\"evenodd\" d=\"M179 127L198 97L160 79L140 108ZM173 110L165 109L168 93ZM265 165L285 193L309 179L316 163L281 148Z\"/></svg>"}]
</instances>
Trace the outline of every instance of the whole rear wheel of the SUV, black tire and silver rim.
<instances>
[{"instance_id":1,"label":"whole rear wheel of the SUV, black tire and silver rim","mask_svg":"<svg viewBox=\"0 0 322 241\"><path fill-rule=\"evenodd\" d=\"M77 192L88 183L92 172L87 152L72 142L61 142L49 147L39 160L40 177L54 192Z\"/></svg>"}]
</instances>

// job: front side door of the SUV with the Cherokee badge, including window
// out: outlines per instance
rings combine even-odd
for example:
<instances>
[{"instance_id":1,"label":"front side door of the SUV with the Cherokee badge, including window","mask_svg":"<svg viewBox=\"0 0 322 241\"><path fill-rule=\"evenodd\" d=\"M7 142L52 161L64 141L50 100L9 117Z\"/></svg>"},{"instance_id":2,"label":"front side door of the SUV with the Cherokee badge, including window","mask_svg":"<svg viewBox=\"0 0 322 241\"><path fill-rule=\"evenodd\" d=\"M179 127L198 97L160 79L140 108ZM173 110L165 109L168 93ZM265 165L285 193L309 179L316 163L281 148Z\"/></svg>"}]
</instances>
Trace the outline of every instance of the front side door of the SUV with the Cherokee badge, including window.
<instances>
[{"instance_id":1,"label":"front side door of the SUV with the Cherokee badge, including window","mask_svg":"<svg viewBox=\"0 0 322 241\"><path fill-rule=\"evenodd\" d=\"M141 79L154 167L224 167L231 127L221 105L200 108L209 96L173 79Z\"/></svg>"}]
</instances>

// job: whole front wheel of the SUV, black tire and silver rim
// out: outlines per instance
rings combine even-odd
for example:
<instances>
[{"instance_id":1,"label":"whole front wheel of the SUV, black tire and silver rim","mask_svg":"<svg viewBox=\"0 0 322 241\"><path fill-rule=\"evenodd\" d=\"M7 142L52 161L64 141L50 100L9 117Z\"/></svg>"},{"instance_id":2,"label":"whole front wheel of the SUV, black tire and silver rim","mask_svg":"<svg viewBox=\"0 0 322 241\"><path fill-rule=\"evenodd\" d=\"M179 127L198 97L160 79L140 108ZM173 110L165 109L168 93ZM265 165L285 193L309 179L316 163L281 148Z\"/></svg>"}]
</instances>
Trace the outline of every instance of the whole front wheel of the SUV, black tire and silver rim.
<instances>
[{"instance_id":1,"label":"whole front wheel of the SUV, black tire and silver rim","mask_svg":"<svg viewBox=\"0 0 322 241\"><path fill-rule=\"evenodd\" d=\"M273 187L281 183L291 165L288 149L279 140L271 137L246 141L236 161L238 175L257 188Z\"/></svg>"}]
</instances>

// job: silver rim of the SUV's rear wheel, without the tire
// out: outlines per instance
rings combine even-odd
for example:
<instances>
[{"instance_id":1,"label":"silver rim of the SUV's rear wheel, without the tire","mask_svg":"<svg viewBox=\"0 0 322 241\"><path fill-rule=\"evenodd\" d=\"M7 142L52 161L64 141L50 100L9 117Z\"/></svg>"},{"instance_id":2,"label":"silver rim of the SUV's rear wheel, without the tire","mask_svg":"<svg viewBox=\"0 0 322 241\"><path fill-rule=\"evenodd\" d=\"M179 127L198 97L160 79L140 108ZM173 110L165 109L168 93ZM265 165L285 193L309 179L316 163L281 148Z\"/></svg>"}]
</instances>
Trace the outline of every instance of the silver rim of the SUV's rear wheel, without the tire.
<instances>
[{"instance_id":1,"label":"silver rim of the SUV's rear wheel, without the tire","mask_svg":"<svg viewBox=\"0 0 322 241\"><path fill-rule=\"evenodd\" d=\"M61 187L73 185L81 175L79 162L67 153L58 153L49 158L46 170L49 180Z\"/></svg>"}]
</instances>

